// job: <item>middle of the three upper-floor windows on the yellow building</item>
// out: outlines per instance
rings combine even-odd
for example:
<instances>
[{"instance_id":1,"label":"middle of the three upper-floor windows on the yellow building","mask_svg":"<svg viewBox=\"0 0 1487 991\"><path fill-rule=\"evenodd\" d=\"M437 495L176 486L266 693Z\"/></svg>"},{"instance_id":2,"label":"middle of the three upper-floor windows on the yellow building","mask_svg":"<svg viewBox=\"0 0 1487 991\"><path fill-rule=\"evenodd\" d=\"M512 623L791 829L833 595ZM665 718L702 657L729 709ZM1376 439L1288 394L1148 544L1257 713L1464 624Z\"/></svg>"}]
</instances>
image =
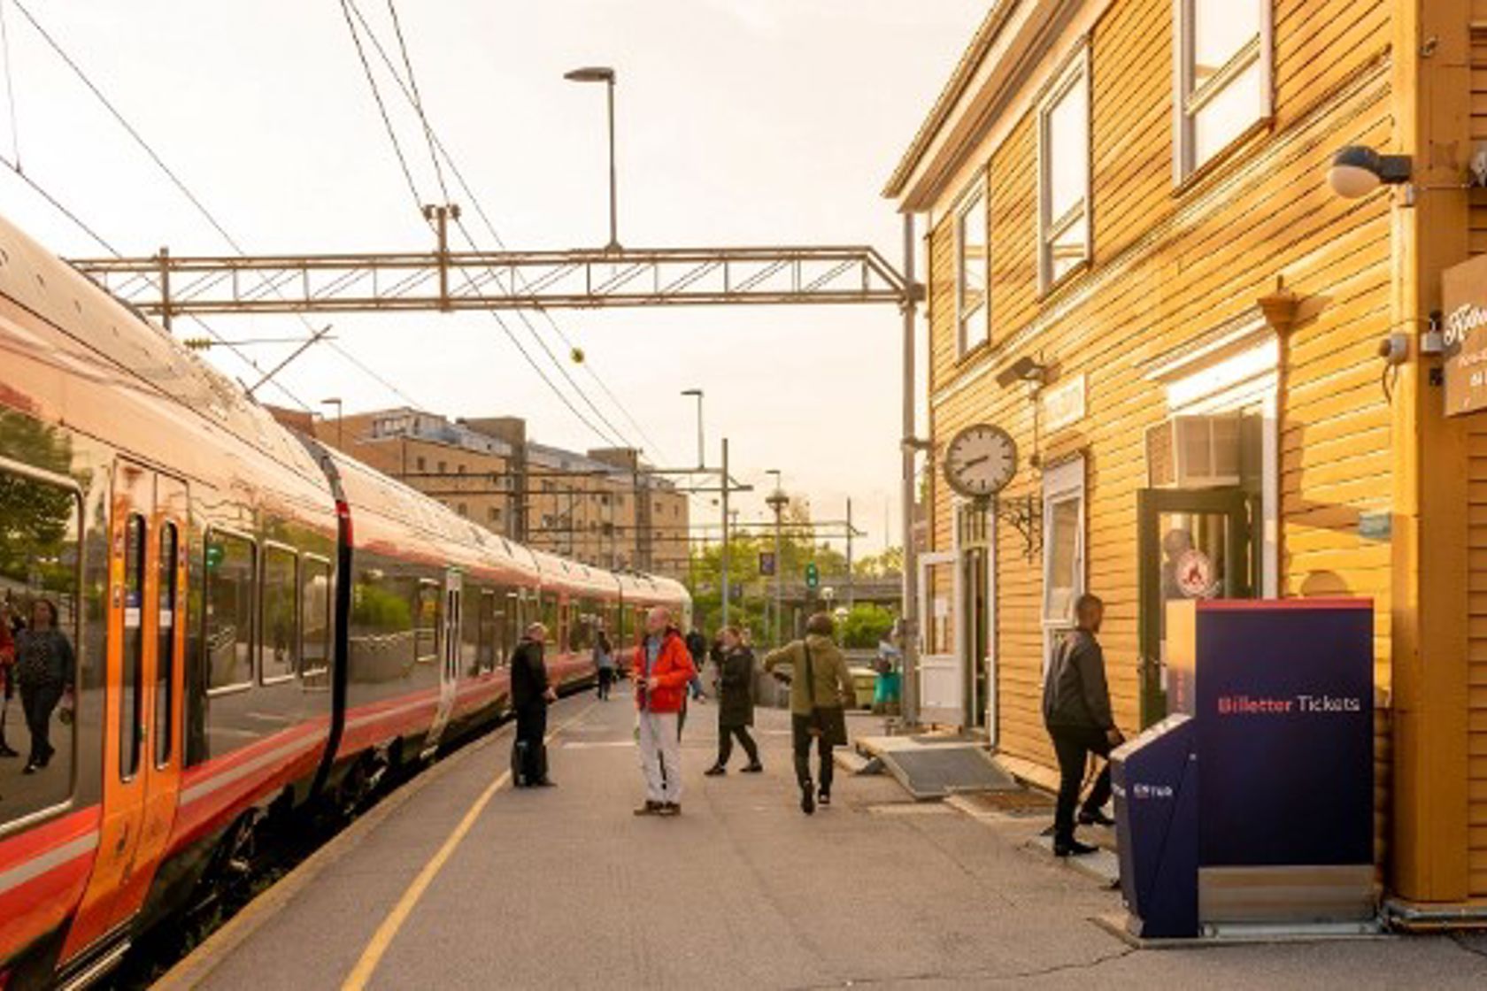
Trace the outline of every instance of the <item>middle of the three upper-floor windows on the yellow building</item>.
<instances>
[{"instance_id":1,"label":"middle of the three upper-floor windows on the yellow building","mask_svg":"<svg viewBox=\"0 0 1487 991\"><path fill-rule=\"evenodd\" d=\"M1038 111L1038 279L1044 290L1090 260L1088 49Z\"/></svg>"}]
</instances>

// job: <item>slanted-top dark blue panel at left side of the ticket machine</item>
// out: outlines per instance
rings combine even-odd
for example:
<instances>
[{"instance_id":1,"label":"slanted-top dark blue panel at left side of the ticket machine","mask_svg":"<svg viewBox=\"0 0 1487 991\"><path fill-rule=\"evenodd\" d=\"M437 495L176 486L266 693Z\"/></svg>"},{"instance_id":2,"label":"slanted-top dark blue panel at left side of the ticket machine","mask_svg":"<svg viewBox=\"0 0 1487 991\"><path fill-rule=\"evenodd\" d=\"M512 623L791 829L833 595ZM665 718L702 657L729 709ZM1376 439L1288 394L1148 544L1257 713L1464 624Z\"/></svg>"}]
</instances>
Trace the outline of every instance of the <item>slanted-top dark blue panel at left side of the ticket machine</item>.
<instances>
[{"instance_id":1,"label":"slanted-top dark blue panel at left side of the ticket machine","mask_svg":"<svg viewBox=\"0 0 1487 991\"><path fill-rule=\"evenodd\" d=\"M1199 933L1197 727L1167 716L1111 753L1127 927L1163 939Z\"/></svg>"}]
</instances>

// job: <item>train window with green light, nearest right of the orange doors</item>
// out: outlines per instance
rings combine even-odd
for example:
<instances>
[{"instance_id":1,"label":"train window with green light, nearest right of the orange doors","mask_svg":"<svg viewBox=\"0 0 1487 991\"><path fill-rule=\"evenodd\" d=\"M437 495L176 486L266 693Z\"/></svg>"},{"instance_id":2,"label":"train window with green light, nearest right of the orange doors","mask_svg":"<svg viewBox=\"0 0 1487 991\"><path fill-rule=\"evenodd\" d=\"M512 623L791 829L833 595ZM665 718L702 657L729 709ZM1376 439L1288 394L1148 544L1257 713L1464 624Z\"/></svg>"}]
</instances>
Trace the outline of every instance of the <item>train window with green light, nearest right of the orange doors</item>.
<instances>
[{"instance_id":1,"label":"train window with green light, nearest right of the orange doors","mask_svg":"<svg viewBox=\"0 0 1487 991\"><path fill-rule=\"evenodd\" d=\"M257 548L253 541L207 530L207 603L202 649L207 651L207 694L253 685L253 605Z\"/></svg>"}]
</instances>

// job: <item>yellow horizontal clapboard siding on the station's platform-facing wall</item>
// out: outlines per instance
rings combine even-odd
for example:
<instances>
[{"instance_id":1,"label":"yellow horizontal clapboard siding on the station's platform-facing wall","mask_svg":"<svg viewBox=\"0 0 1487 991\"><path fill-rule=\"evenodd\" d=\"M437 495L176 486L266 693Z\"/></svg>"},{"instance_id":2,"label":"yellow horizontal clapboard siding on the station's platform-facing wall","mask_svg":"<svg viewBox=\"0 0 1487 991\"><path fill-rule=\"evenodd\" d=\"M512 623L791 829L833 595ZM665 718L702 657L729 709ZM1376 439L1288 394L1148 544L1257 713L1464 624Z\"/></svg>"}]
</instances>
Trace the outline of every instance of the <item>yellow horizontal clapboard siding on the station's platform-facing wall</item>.
<instances>
[{"instance_id":1,"label":"yellow horizontal clapboard siding on the station's platform-facing wall","mask_svg":"<svg viewBox=\"0 0 1487 991\"><path fill-rule=\"evenodd\" d=\"M1283 594L1364 594L1377 603L1375 651L1387 685L1390 553L1358 533L1359 514L1390 501L1390 415L1374 352L1389 325L1389 204L1338 199L1326 187L1341 144L1389 147L1389 4L1383 0L1276 3L1274 122L1182 190L1172 184L1172 3L1115 0L1088 36L1091 73L1093 259L1051 293L1038 285L1036 105L986 149L975 181L987 190L992 346L955 354L953 198L935 205L929 239L932 434L1007 428L1035 450L1025 386L995 370L1042 354L1084 374L1087 416L1042 437L1045 465L1086 458L1086 568L1106 600L1102 640L1117 719L1139 722L1136 493L1146 483L1145 428L1167 415L1146 370L1164 354L1251 312L1276 278L1307 300L1282 343L1279 422ZM1050 71L1063 62L1050 55ZM1030 92L1045 77L1028 80ZM953 510L937 486L937 548L950 547ZM1487 499L1487 475L1481 486ZM1007 498L1041 495L1023 468ZM1487 532L1487 502L1483 527ZM1042 559L1025 556L1007 523L998 541L998 740L1011 756L1053 765L1039 713ZM1487 547L1484 547L1487 551ZM1480 602L1487 608L1487 584ZM1487 614L1484 614L1487 617ZM1487 658L1487 642L1481 654ZM1487 695L1487 670L1481 675ZM1380 732L1387 713L1380 713ZM1483 741L1487 755L1487 738ZM1387 761L1387 738L1378 759ZM1380 776L1381 782L1387 776ZM1484 776L1483 792L1487 792ZM1380 816L1386 795L1380 792ZM1484 823L1487 828L1487 823Z\"/></svg>"}]
</instances>

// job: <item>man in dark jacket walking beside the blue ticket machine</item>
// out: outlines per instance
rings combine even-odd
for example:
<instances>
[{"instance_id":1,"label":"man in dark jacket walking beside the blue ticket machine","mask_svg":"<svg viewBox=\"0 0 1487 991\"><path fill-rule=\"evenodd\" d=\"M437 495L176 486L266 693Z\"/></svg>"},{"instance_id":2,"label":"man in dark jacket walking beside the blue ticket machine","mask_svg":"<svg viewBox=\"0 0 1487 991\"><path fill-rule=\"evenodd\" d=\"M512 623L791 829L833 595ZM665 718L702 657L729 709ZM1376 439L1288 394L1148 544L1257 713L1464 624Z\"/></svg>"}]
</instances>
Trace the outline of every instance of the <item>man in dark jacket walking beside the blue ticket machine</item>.
<instances>
[{"instance_id":1,"label":"man in dark jacket walking beside the blue ticket machine","mask_svg":"<svg viewBox=\"0 0 1487 991\"><path fill-rule=\"evenodd\" d=\"M1042 721L1059 755L1059 807L1053 819L1053 853L1060 857L1094 853L1094 847L1074 838L1074 805L1090 753L1108 758L1124 741L1111 716L1111 694L1105 683L1105 652L1096 637L1105 618L1105 603L1088 593L1074 603L1078 628L1054 649L1042 685ZM1111 768L1106 762L1094 780L1080 823L1109 826L1100 811L1111 796Z\"/></svg>"}]
</instances>

